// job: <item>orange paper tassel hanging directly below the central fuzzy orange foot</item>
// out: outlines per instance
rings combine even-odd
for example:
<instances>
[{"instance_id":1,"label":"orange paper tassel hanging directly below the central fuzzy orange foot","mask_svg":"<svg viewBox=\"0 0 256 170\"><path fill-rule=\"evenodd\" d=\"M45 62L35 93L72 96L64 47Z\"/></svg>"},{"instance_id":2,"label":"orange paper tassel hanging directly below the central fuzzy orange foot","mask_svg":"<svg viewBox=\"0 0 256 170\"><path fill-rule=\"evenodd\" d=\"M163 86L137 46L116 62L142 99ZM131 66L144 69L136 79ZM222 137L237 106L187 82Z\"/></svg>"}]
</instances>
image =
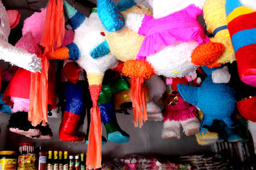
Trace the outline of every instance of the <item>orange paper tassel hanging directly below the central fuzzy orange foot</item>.
<instances>
[{"instance_id":1,"label":"orange paper tassel hanging directly below the central fuzzy orange foot","mask_svg":"<svg viewBox=\"0 0 256 170\"><path fill-rule=\"evenodd\" d=\"M133 122L135 127L138 127L139 125L141 127L143 125L143 120L147 121L145 78L140 77L131 79L131 97L134 111Z\"/></svg>"}]
</instances>

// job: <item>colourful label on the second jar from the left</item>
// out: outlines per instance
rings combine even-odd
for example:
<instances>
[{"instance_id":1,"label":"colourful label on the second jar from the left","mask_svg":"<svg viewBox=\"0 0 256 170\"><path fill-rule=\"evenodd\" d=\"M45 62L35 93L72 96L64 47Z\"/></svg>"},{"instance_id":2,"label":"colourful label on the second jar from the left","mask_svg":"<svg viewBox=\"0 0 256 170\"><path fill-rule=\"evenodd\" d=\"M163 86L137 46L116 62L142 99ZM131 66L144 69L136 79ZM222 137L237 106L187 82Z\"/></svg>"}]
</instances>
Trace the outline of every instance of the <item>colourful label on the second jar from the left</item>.
<instances>
[{"instance_id":1,"label":"colourful label on the second jar from the left","mask_svg":"<svg viewBox=\"0 0 256 170\"><path fill-rule=\"evenodd\" d=\"M35 153L27 153L25 155L20 155L18 160L17 170L35 170Z\"/></svg>"}]
</instances>

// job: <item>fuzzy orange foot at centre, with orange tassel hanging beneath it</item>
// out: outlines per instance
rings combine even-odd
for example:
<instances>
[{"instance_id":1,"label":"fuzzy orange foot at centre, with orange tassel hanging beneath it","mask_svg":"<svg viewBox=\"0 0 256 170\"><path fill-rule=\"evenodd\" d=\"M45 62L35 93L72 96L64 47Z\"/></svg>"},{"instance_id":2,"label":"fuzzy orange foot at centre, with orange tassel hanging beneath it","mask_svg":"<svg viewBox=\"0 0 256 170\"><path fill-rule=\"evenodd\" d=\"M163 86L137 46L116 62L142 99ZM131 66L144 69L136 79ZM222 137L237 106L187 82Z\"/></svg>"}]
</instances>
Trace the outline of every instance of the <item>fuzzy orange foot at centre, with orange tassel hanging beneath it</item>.
<instances>
[{"instance_id":1,"label":"fuzzy orange foot at centre, with orange tassel hanging beneath it","mask_svg":"<svg viewBox=\"0 0 256 170\"><path fill-rule=\"evenodd\" d=\"M123 73L131 78L150 78L155 71L147 61L127 60L123 67Z\"/></svg>"}]
</instances>

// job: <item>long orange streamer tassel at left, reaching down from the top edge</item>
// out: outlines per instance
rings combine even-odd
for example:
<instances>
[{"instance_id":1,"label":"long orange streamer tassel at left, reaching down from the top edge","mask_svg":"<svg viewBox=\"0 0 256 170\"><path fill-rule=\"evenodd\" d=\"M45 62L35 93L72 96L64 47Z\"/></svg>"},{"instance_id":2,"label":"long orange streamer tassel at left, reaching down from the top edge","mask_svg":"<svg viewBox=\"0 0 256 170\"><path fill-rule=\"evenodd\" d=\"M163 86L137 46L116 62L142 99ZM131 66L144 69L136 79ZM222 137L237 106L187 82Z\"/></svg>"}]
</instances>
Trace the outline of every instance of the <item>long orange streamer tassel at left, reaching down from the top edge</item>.
<instances>
[{"instance_id":1,"label":"long orange streamer tassel at left, reaching down from the top edge","mask_svg":"<svg viewBox=\"0 0 256 170\"><path fill-rule=\"evenodd\" d=\"M40 45L44 46L41 73L31 73L28 120L33 126L47 122L48 115L48 69L47 55L60 48L65 36L63 0L49 0Z\"/></svg>"}]
</instances>

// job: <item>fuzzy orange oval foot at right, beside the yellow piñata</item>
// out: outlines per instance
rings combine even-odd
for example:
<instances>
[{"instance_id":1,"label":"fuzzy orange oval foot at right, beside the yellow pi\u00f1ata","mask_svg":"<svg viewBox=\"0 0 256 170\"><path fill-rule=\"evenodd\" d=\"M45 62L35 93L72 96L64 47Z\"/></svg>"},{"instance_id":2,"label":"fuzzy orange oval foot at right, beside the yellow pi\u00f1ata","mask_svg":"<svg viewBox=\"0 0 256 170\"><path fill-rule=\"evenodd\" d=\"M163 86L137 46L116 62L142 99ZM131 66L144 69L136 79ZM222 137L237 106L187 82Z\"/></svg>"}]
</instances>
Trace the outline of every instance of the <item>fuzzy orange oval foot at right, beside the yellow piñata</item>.
<instances>
[{"instance_id":1,"label":"fuzzy orange oval foot at right, beside the yellow pi\u00f1ata","mask_svg":"<svg viewBox=\"0 0 256 170\"><path fill-rule=\"evenodd\" d=\"M225 50L221 43L206 43L197 46L191 54L191 62L197 66L210 66L219 59Z\"/></svg>"}]
</instances>

